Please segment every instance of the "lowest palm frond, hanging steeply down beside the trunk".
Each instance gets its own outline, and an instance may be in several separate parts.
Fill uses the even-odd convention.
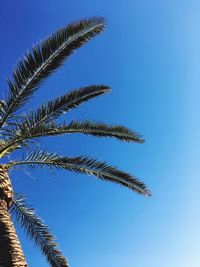
[[[66,258],[58,248],[55,237],[36,214],[35,209],[27,204],[24,195],[15,194],[11,213],[27,236],[41,249],[52,267],[69,267]]]

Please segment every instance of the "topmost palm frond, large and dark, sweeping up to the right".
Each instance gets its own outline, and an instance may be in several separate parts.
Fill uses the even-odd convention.
[[[13,79],[8,79],[10,91],[1,110],[0,128],[67,57],[102,32],[104,27],[105,21],[101,17],[84,19],[59,29],[28,51],[15,67]]]

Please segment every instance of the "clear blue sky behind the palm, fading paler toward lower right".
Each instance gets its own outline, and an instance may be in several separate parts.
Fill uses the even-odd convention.
[[[197,0],[1,1],[0,88],[24,51],[58,27],[102,15],[104,34],[79,49],[29,107],[93,83],[112,93],[66,119],[121,123],[146,143],[63,136],[41,147],[86,154],[135,174],[152,190],[143,198],[95,177],[13,172],[52,228],[72,267],[200,266],[200,2]],[[43,256],[19,231],[30,267]]]

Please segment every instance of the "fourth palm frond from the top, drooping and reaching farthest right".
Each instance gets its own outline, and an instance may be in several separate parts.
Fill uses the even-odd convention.
[[[10,162],[7,168],[17,165],[29,165],[34,167],[47,166],[49,168],[64,169],[72,172],[90,174],[104,181],[110,181],[131,189],[139,194],[150,196],[150,191],[145,184],[132,175],[109,166],[105,162],[99,162],[89,157],[59,157],[57,154],[46,151],[35,151],[28,155],[25,160]]]

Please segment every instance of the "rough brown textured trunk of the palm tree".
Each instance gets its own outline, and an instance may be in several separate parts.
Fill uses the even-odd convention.
[[[6,170],[0,165],[0,267],[27,267],[9,207],[13,189]]]

